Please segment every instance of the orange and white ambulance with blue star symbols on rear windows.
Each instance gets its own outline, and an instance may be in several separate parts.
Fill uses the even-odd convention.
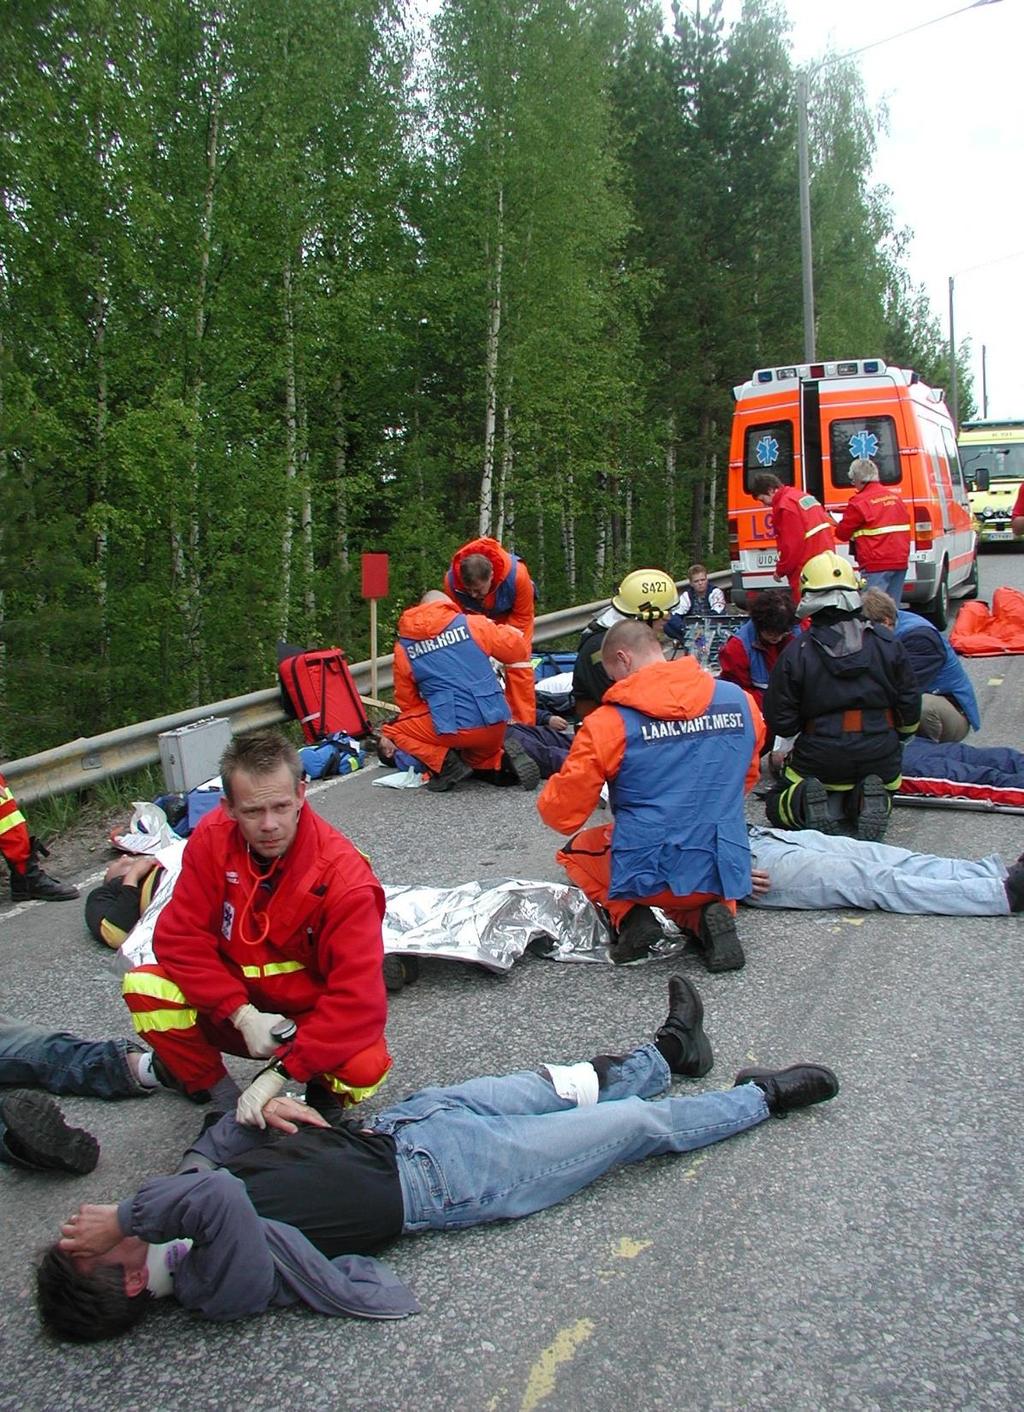
[[[771,511],[750,494],[760,472],[815,496],[833,520],[853,494],[850,462],[870,456],[912,517],[904,603],[945,627],[951,594],[977,596],[977,535],[942,393],[881,359],[758,369],[733,388],[729,548],[733,603],[773,578]],[[849,556],[849,546],[840,554]]]

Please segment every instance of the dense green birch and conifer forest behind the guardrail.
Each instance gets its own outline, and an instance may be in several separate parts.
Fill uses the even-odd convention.
[[[270,685],[282,635],[362,657],[363,551],[387,650],[480,524],[544,610],[722,546],[729,388],[801,346],[774,0],[13,3],[0,41],[0,751]],[[812,117],[822,350],[948,383],[855,69]]]

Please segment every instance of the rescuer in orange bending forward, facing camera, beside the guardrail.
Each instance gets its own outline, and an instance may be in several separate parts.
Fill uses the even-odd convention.
[[[530,569],[497,539],[470,539],[460,549],[445,575],[445,593],[463,613],[482,613],[492,623],[516,627],[525,638],[525,661],[506,672],[504,695],[513,720],[537,724],[537,695],[530,654],[534,650],[537,589]]]

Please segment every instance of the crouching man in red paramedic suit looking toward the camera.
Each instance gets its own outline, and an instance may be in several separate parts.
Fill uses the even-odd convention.
[[[319,1110],[384,1080],[384,892],[349,840],[305,803],[298,753],[275,731],[220,761],[225,799],[188,842],[157,922],[155,966],[124,977],[138,1035],[196,1101],[237,1099],[239,1121],[288,1079]],[[294,1019],[294,1038],[271,1032]],[[271,1060],[239,1099],[222,1052]]]

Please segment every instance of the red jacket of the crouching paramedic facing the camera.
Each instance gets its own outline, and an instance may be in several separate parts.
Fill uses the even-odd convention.
[[[287,1065],[305,1082],[384,1034],[384,892],[363,854],[308,803],[270,892],[250,867],[223,806],[199,820],[157,922],[157,962],[216,1021],[246,1003],[297,1019]],[[270,932],[250,945],[261,915]]]

